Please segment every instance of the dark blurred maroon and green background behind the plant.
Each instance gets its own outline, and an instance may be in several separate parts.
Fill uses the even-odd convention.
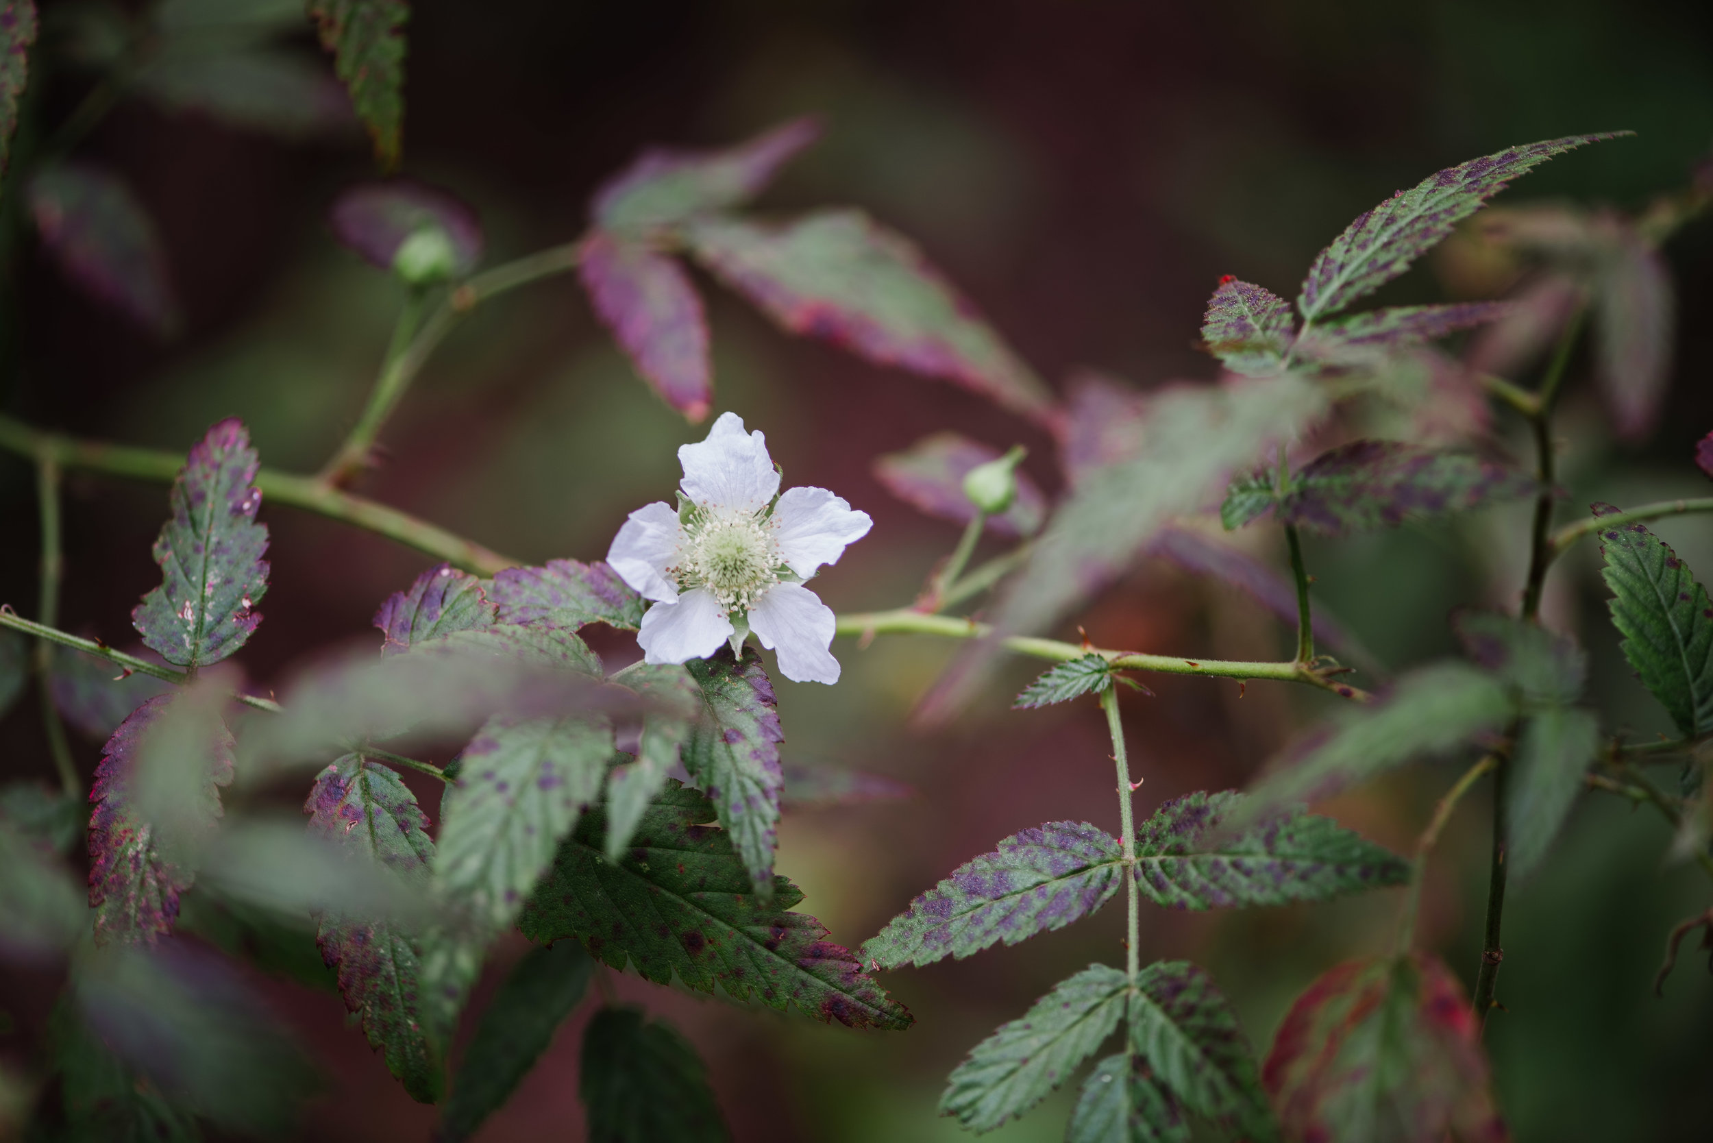
[[[53,3],[50,0],[48,7]],[[721,144],[791,115],[826,117],[822,144],[762,200],[790,211],[851,202],[915,236],[1055,384],[1095,367],[1141,386],[1211,377],[1194,343],[1206,296],[1237,274],[1293,296],[1314,254],[1398,187],[1506,144],[1632,129],[1636,139],[1561,158],[1506,200],[1574,197],[1638,207],[1682,187],[1713,146],[1713,5],[1665,0],[1487,0],[1384,5],[1307,0],[1220,5],[1132,2],[829,0],[577,3],[418,0],[409,26],[406,161],[411,175],[476,204],[488,262],[565,242],[596,183],[644,144]],[[51,120],[82,94],[50,79]],[[187,326],[156,341],[84,300],[36,252],[22,255],[19,368],[7,408],[81,435],[185,449],[242,416],[264,463],[308,470],[361,406],[401,288],[336,247],[331,197],[372,175],[358,141],[283,144],[195,115],[122,105],[84,154],[118,170],[158,218]],[[1668,248],[1679,296],[1675,380],[1663,428],[1620,449],[1573,365],[1566,512],[1704,494],[1691,464],[1713,428],[1713,226]],[[838,490],[874,533],[817,589],[839,610],[908,601],[956,540],[870,476],[872,459],[939,428],[1033,451],[1057,488],[1052,442],[978,398],[790,339],[711,283],[716,411],[767,434],[788,483]],[[1408,295],[1408,296],[1405,296]],[[1391,296],[1391,295],[1388,295]],[[1424,262],[1398,291],[1435,300]],[[363,492],[529,562],[598,559],[624,514],[663,499],[673,449],[699,439],[636,380],[569,278],[519,291],[461,327],[384,434],[389,463]],[[0,461],[0,600],[34,600],[34,492]],[[149,543],[163,487],[72,478],[63,625],[123,644],[158,579]],[[1511,603],[1521,516],[1406,528],[1316,545],[1319,598],[1388,668],[1447,653],[1446,613]],[[370,637],[379,601],[427,566],[384,540],[264,509],[272,588],[245,651],[274,680],[331,641]],[[1658,530],[1713,574],[1713,528]],[[1665,727],[1631,679],[1603,615],[1590,552],[1555,571],[1557,622],[1595,656],[1607,723]],[[1185,655],[1288,655],[1252,603],[1141,567],[1079,622],[1105,646]],[[615,641],[612,648],[622,651]],[[858,944],[908,900],[1021,828],[1088,819],[1117,831],[1110,745],[1093,708],[1006,711],[994,694],[944,732],[908,723],[949,646],[839,641],[845,680],[779,682],[786,747],[908,783],[903,804],[788,812],[779,869],[803,908]],[[634,651],[630,651],[634,655]],[[1028,677],[1018,667],[1007,677]],[[1240,785],[1321,711],[1314,696],[1256,684],[1149,680],[1125,697],[1148,812],[1194,788]],[[51,773],[33,704],[0,725],[9,776]],[[77,740],[94,768],[98,742]],[[1324,807],[1398,848],[1412,845],[1451,764],[1417,768]],[[433,812],[433,793],[420,787]],[[1485,805],[1453,821],[1427,888],[1424,939],[1470,984],[1485,893]],[[1585,804],[1555,860],[1513,891],[1489,1045],[1519,1140],[1704,1140],[1713,1122],[1713,1004],[1687,958],[1663,999],[1650,985],[1663,937],[1708,903],[1692,865],[1665,862],[1648,812]],[[1261,1050],[1290,999],[1334,961],[1388,946],[1396,893],[1312,908],[1216,915],[1149,910],[1144,958],[1194,958],[1235,999]],[[1146,907],[1144,907],[1146,908]],[[738,1140],[951,1140],[935,1119],[946,1073],[995,1025],[1093,960],[1113,961],[1122,910],[886,984],[918,1023],[853,1033],[800,1016],[618,987],[677,1021],[709,1061]],[[521,953],[502,946],[488,985]],[[325,1068],[303,1126],[315,1140],[421,1140],[433,1112],[409,1102],[331,992],[257,982]],[[7,989],[17,1013],[0,1050],[22,1050],[51,980]],[[34,996],[33,992],[43,992]],[[478,992],[480,1004],[483,992]],[[39,1026],[39,1025],[38,1025]],[[481,1140],[581,1138],[577,1032],[567,1026]],[[994,1138],[1064,1131],[1071,1092]]]

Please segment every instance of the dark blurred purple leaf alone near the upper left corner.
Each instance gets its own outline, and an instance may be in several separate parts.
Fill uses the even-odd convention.
[[[144,329],[170,336],[180,324],[154,221],[130,189],[94,166],[58,165],[26,187],[41,242],[89,296]]]

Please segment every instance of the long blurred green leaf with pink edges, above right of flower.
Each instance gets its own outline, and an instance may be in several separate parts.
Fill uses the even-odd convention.
[[[707,218],[690,223],[685,240],[721,281],[791,332],[1052,420],[1052,392],[1035,370],[915,243],[862,211],[817,211],[783,226]]]

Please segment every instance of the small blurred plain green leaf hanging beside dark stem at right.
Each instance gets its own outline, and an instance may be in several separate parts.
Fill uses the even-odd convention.
[[[1549,706],[1523,723],[1516,761],[1504,778],[1513,877],[1526,877],[1545,859],[1598,749],[1600,721],[1591,711]]]

